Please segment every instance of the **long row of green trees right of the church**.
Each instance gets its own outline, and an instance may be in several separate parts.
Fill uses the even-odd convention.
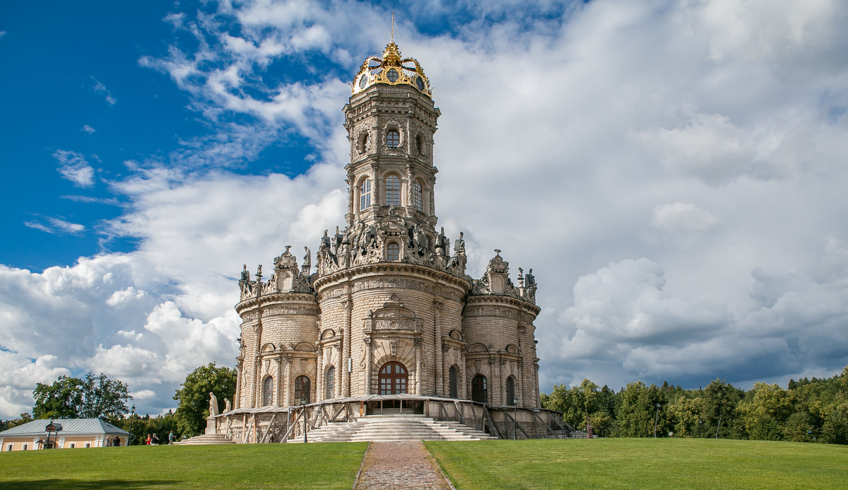
[[[604,437],[722,437],[848,444],[848,366],[840,375],[754,383],[745,391],[722,380],[686,390],[663,382],[628,383],[617,393],[584,379],[542,393],[542,406]]]

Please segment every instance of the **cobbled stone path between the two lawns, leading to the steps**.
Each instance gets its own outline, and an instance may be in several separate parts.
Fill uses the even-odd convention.
[[[356,490],[451,490],[421,441],[371,443]]]

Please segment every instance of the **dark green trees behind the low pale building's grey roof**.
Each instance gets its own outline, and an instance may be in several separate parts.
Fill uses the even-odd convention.
[[[36,384],[32,392],[36,419],[105,419],[126,414],[132,397],[126,383],[110,380],[103,373],[87,373],[85,379],[59,376],[52,385]]]

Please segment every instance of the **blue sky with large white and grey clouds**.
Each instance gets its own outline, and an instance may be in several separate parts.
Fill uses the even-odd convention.
[[[395,41],[468,273],[538,282],[539,381],[848,365],[848,3],[0,3],[0,418],[233,367],[237,279],[343,225],[342,107]]]

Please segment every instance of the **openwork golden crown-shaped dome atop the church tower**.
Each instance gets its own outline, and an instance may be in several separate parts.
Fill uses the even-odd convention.
[[[364,91],[377,83],[387,85],[409,85],[427,97],[432,97],[430,81],[416,58],[401,58],[398,45],[389,42],[382,58],[370,56],[362,62],[354,78],[353,93]]]

